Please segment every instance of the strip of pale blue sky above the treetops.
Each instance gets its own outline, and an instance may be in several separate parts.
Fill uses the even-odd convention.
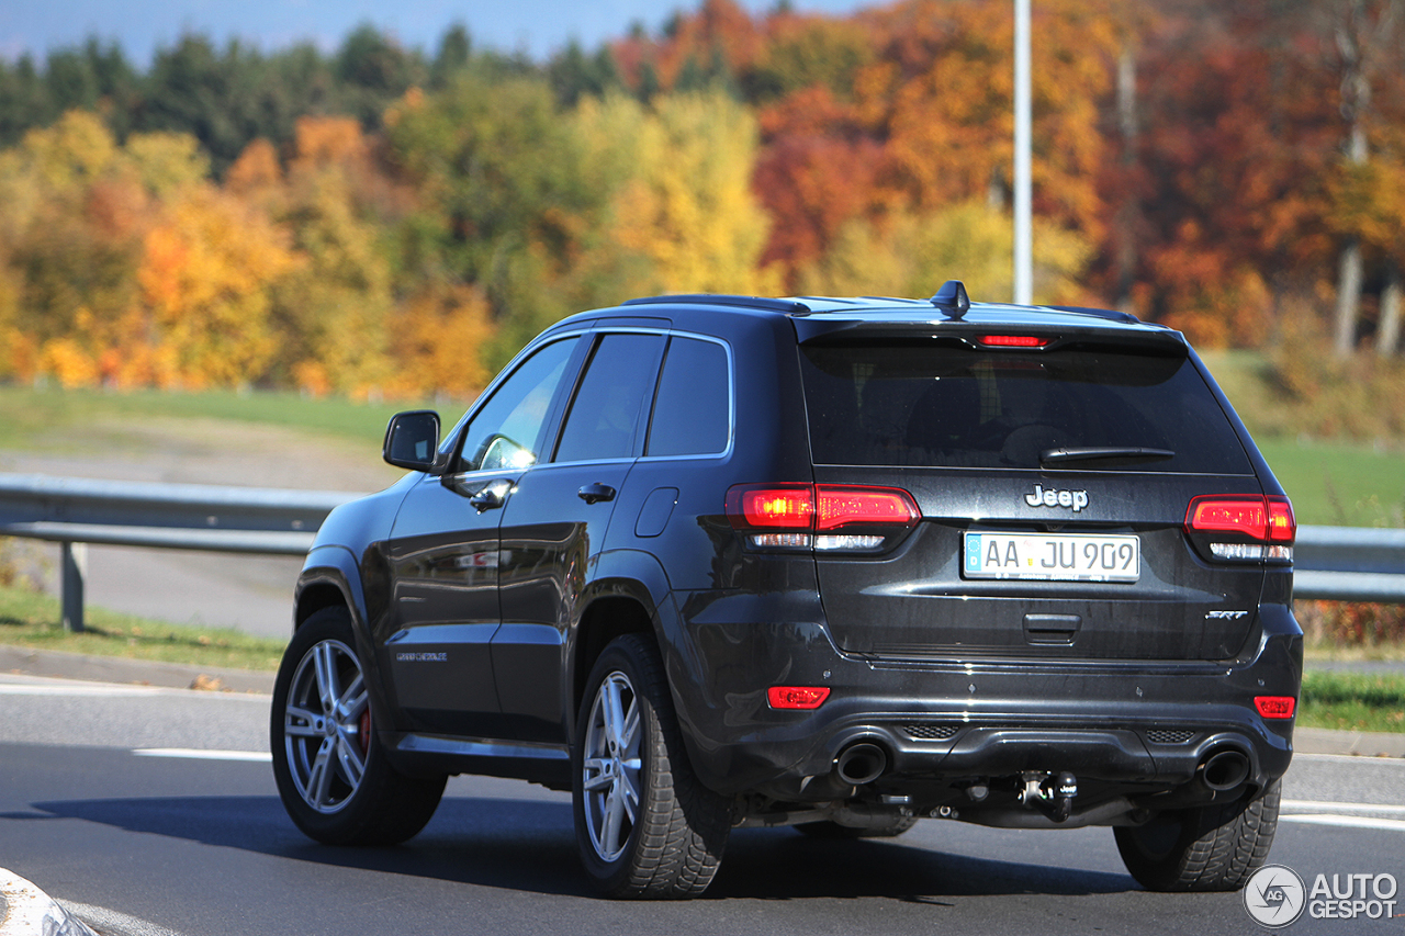
[[[739,0],[752,13],[774,0]],[[475,48],[524,51],[545,60],[572,38],[587,51],[642,22],[658,31],[677,8],[698,0],[3,0],[0,58],[42,59],[53,48],[89,37],[117,41],[138,67],[181,35],[198,32],[223,45],[237,38],[264,51],[311,39],[334,49],[357,25],[371,22],[406,46],[433,53],[444,30],[468,27]],[[792,0],[795,10],[850,13],[873,0]]]

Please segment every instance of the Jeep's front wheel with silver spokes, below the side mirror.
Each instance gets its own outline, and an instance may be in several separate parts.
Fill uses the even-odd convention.
[[[344,607],[316,611],[294,634],[273,690],[273,773],[309,838],[395,845],[430,821],[447,777],[407,777],[385,759],[354,646]]]

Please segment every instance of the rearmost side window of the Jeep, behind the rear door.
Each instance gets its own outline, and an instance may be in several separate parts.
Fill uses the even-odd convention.
[[[659,378],[646,455],[714,455],[726,451],[731,427],[726,350],[714,342],[674,337]]]

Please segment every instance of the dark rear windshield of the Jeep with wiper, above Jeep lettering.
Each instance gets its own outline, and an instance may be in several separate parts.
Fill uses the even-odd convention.
[[[816,464],[1253,472],[1186,357],[910,342],[801,351]],[[1159,451],[1041,465],[1069,448]]]

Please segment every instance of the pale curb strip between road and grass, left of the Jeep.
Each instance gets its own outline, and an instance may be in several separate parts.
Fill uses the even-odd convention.
[[[160,663],[122,656],[90,656],[65,651],[0,645],[0,673],[58,676],[96,683],[136,683],[169,689],[207,689],[232,693],[273,694],[274,673],[218,666]]]

